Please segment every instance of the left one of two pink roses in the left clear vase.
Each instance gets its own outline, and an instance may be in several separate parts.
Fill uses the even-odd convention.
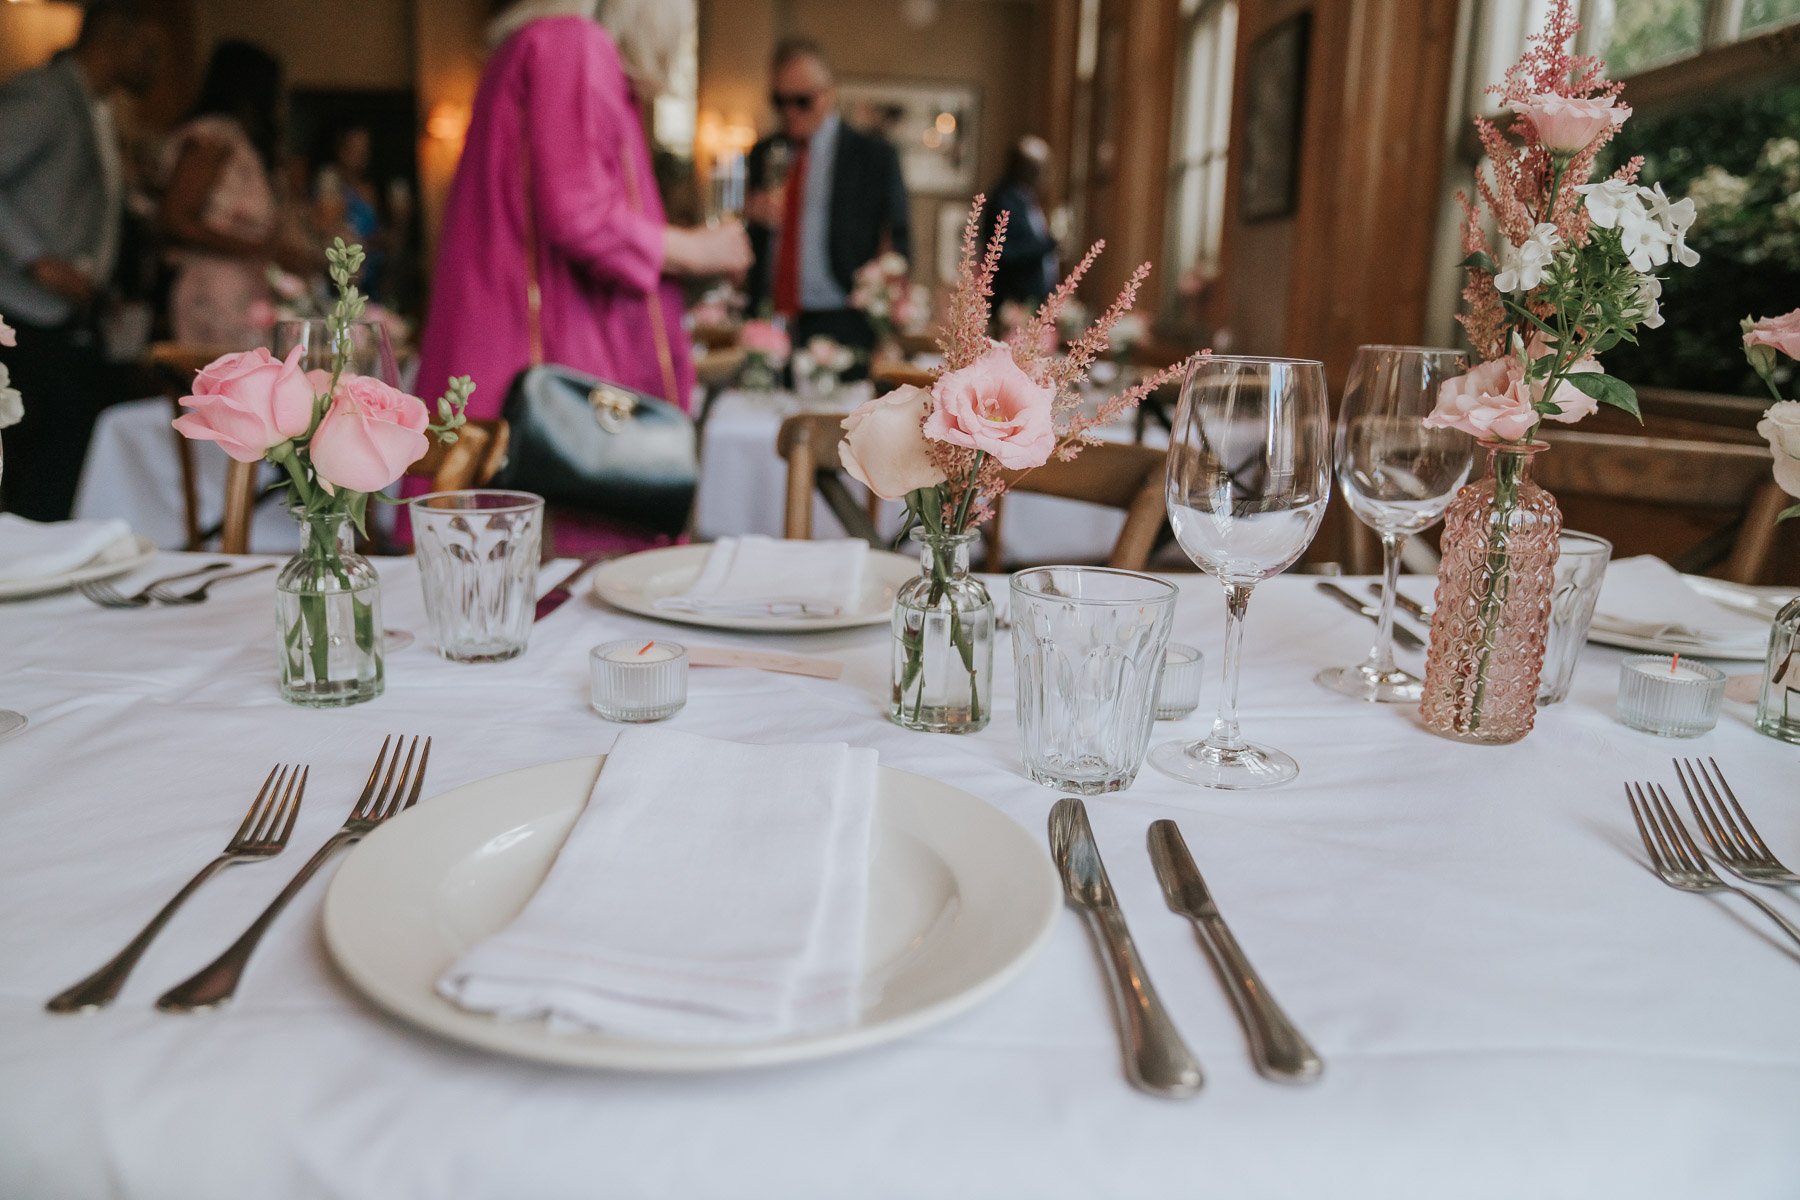
[[[239,462],[256,462],[313,423],[313,389],[301,372],[302,347],[286,362],[266,349],[225,354],[200,369],[194,394],[182,398],[175,428],[184,437],[216,441]]]

